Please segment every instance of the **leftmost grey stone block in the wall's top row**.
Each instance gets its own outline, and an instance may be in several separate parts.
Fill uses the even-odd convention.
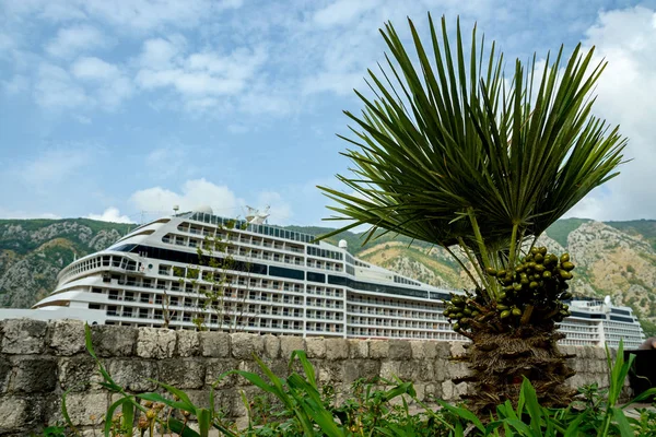
[[[2,326],[4,354],[40,354],[46,349],[48,323],[32,319],[8,319]]]

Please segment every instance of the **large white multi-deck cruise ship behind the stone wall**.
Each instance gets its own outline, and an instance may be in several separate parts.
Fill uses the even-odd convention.
[[[271,226],[267,214],[224,218],[210,208],[134,228],[73,261],[32,310],[0,318],[77,318],[168,327],[349,339],[466,341],[442,315],[449,293],[364,262],[312,235]],[[215,249],[221,241],[221,250]],[[212,298],[208,305],[208,299]],[[19,312],[15,312],[19,311]],[[21,314],[20,311],[24,311]],[[637,347],[631,308],[575,300],[562,344]],[[28,314],[27,314],[28,312]]]

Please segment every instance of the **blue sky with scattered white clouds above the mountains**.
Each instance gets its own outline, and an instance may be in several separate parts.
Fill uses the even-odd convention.
[[[378,27],[478,22],[506,59],[561,43],[609,67],[596,111],[634,158],[570,215],[656,218],[656,3],[483,0],[0,0],[0,217],[139,221],[173,204],[271,222],[329,215],[343,109],[384,59]],[[453,26],[452,26],[453,27]]]

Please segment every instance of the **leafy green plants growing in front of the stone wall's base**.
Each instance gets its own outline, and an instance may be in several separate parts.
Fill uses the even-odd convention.
[[[105,414],[105,437],[133,436],[153,437],[169,435],[179,437],[206,437],[210,428],[221,435],[236,436],[522,436],[522,437],[583,437],[583,436],[656,436],[656,413],[637,410],[625,414],[625,409],[656,393],[647,390],[628,404],[619,403],[624,381],[634,356],[623,357],[620,344],[617,357],[607,349],[609,388],[597,385],[579,389],[582,400],[566,408],[553,409],[541,404],[539,394],[529,379],[520,383],[518,401],[509,400],[495,405],[487,417],[478,417],[466,404],[452,405],[442,400],[434,411],[418,399],[412,382],[398,378],[386,380],[359,379],[351,387],[352,395],[336,404],[331,386],[317,383],[316,370],[305,352],[294,351],[289,363],[289,376],[277,376],[259,357],[262,376],[244,370],[222,374],[211,386],[209,406],[194,404],[185,391],[164,382],[153,381],[166,394],[149,392],[131,394],[120,387],[97,358],[91,342],[91,329],[85,328],[86,349],[96,361],[103,377],[101,385],[109,392],[119,394]],[[215,409],[214,390],[229,375],[238,375],[262,391],[251,401],[242,393],[248,412],[248,427],[238,430],[225,421]],[[151,380],[152,381],[152,380]],[[386,389],[382,389],[385,387]],[[68,429],[51,426],[43,432],[44,437],[80,436],[68,414],[66,397],[62,397],[62,415]],[[278,409],[273,402],[280,404]],[[412,402],[417,408],[411,409]],[[190,421],[198,424],[198,432],[189,427]]]

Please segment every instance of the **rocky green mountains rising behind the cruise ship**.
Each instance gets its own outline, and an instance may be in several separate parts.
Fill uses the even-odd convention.
[[[70,220],[0,220],[0,307],[28,307],[51,292],[57,273],[75,257],[108,247],[134,225]],[[312,235],[329,227],[288,226]],[[408,237],[341,233],[349,250],[363,260],[429,284],[464,288],[471,282],[445,249]],[[631,306],[648,334],[656,334],[656,221],[594,222],[566,218],[553,224],[539,245],[569,251],[576,295]]]

